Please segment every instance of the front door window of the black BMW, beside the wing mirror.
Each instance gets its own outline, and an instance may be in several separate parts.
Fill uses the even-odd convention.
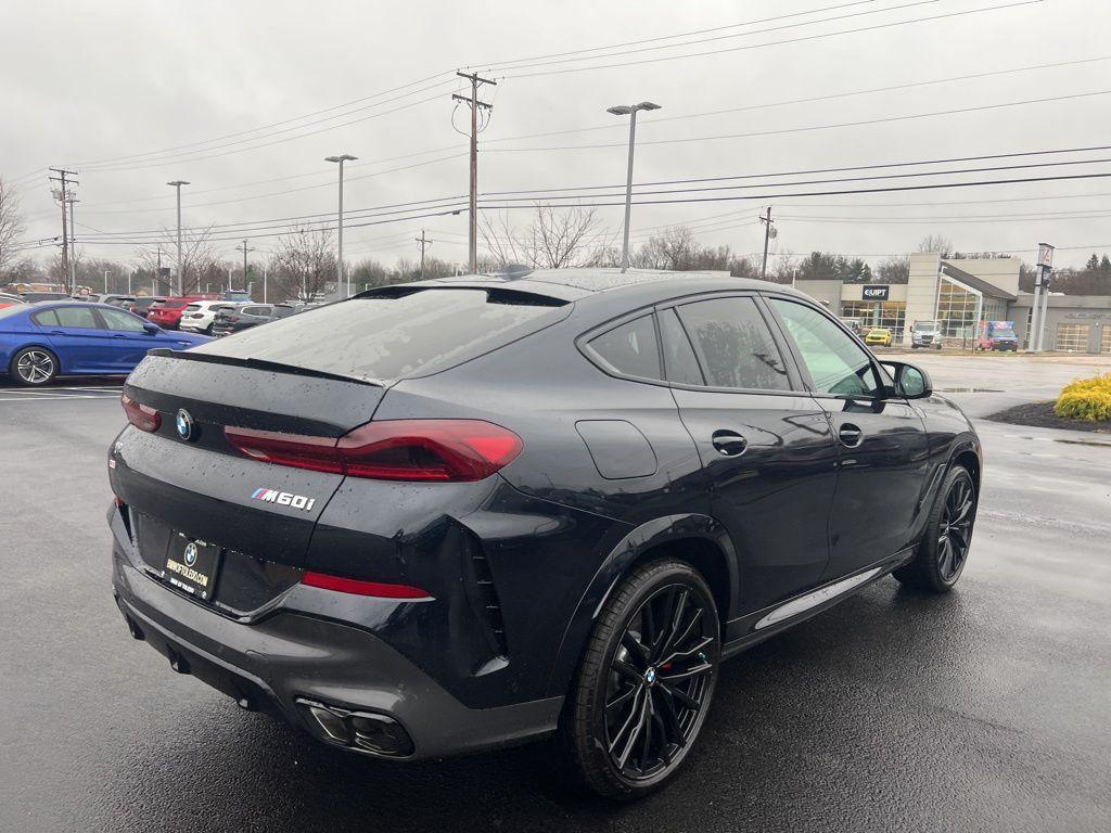
[[[815,393],[874,397],[880,388],[868,354],[829,318],[805,304],[770,299],[810,371]]]

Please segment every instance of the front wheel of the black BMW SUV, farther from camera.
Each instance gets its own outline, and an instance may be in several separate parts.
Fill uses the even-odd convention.
[[[930,593],[952,590],[968,563],[978,499],[968,469],[953,465],[941,482],[914,559],[892,575],[915,590]]]

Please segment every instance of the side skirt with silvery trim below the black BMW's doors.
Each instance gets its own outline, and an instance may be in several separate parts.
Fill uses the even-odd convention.
[[[738,654],[758,642],[763,642],[765,639],[832,608],[853,593],[859,593],[870,584],[874,584],[913,556],[913,548],[908,546],[852,575],[808,590],[805,593],[780,604],[734,619],[725,626],[725,644],[721,649],[722,659]]]

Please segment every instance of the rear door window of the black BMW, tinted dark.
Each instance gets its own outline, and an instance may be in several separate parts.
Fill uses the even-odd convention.
[[[715,298],[679,308],[713,388],[787,391],[791,381],[771,332],[751,298]]]

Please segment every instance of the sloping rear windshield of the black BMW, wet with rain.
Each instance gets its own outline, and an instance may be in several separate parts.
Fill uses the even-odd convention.
[[[192,352],[291,364],[379,382],[447,370],[564,318],[570,305],[486,289],[354,298]]]

